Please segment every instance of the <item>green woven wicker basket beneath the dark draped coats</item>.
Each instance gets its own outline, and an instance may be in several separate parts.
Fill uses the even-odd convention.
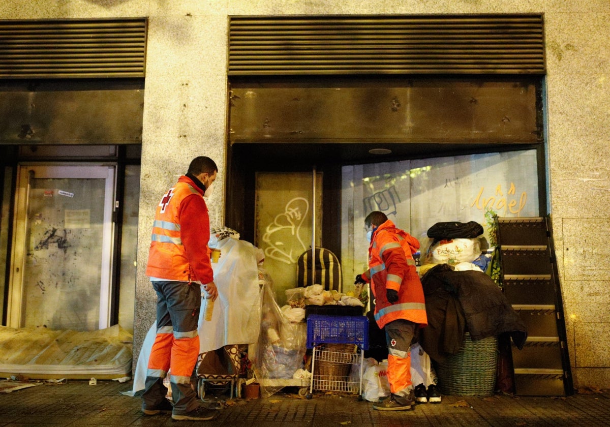
[[[457,396],[492,395],[498,362],[497,337],[473,341],[466,332],[462,344],[458,354],[435,363],[440,392]]]

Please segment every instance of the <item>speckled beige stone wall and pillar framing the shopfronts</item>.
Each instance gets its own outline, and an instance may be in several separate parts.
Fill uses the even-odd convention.
[[[608,0],[4,0],[0,19],[149,17],[134,353],[154,320],[145,275],[159,195],[202,154],[220,168],[223,224],[229,15],[544,12],[548,196],[576,386],[610,383]]]

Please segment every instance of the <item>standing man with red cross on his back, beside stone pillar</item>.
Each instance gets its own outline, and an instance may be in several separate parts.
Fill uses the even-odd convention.
[[[218,411],[200,406],[190,378],[199,354],[201,287],[215,300],[209,248],[209,196],[218,168],[209,157],[192,160],[185,175],[161,198],[152,225],[146,274],[157,293],[157,336],[146,370],[142,411],[171,411],[174,420],[204,421]],[[170,372],[171,397],[163,378]]]

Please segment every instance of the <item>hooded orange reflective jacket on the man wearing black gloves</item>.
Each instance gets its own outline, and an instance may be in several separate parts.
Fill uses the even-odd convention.
[[[379,328],[397,319],[410,320],[420,327],[428,325],[422,282],[412,256],[412,251],[418,248],[418,240],[396,228],[390,220],[381,224],[371,237],[369,269],[362,276],[371,283]],[[387,289],[398,292],[396,303],[387,300]]]

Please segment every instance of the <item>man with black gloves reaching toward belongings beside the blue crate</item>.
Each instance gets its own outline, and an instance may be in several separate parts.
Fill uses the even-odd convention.
[[[415,237],[396,228],[378,210],[364,220],[370,235],[368,270],[356,283],[371,283],[375,320],[386,327],[387,379],[390,397],[373,404],[379,411],[404,411],[415,406],[411,382],[411,344],[417,329],[428,324],[426,306],[412,253],[419,249]]]

